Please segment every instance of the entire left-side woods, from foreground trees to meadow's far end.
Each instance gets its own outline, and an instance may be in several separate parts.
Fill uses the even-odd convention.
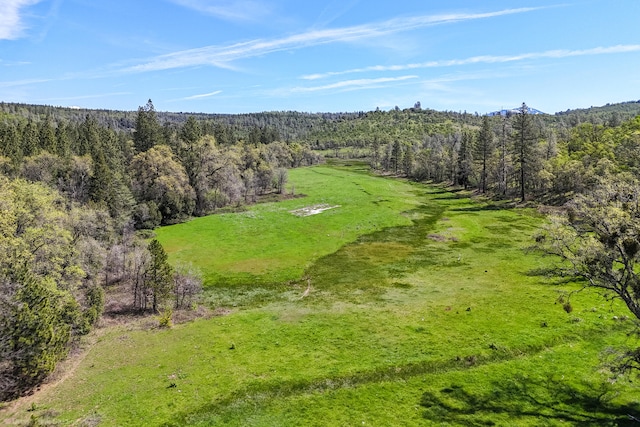
[[[151,101],[131,129],[126,116],[38,112],[0,116],[0,400],[41,382],[105,305],[158,313],[193,304],[199,273],[169,265],[136,229],[283,193],[287,168],[320,160],[268,126],[233,140],[225,125],[192,116],[161,124]]]

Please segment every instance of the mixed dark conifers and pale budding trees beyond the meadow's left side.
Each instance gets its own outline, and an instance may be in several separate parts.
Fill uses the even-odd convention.
[[[319,161],[305,145],[280,142],[274,127],[254,126],[248,139],[234,140],[226,125],[193,116],[179,126],[161,124],[151,102],[140,107],[130,130],[92,115],[56,121],[44,111],[44,117],[0,118],[4,174],[45,183],[78,203],[104,205],[113,217],[133,216],[138,228],[253,201],[277,187],[280,169]]]

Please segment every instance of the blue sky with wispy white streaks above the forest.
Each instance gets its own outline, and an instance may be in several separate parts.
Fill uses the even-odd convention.
[[[640,1],[0,0],[0,101],[554,113],[640,99]]]

